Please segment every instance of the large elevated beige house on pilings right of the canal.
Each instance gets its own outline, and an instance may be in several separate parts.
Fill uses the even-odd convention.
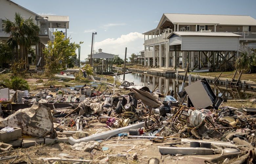
[[[232,70],[234,59],[256,43],[256,20],[243,15],[164,13],[144,34],[144,65]]]

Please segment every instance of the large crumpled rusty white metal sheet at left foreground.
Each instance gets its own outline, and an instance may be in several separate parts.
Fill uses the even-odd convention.
[[[34,103],[30,108],[20,109],[0,122],[1,127],[20,127],[22,133],[32,137],[45,137],[53,131],[50,108]]]

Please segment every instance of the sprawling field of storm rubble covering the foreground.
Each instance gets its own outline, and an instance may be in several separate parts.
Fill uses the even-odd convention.
[[[195,83],[203,87],[203,98]],[[123,158],[164,163],[170,155],[177,156],[177,160],[204,155],[207,159],[202,161],[208,163],[255,162],[253,110],[221,107],[223,100],[211,95],[207,82],[195,83],[184,87],[180,101],[174,95],[163,96],[156,88],[152,93],[148,87],[136,85],[127,87],[130,92],[124,94],[114,94],[111,89],[102,92],[97,82],[66,88],[53,85],[30,92],[10,90],[1,101],[0,141],[11,145],[14,149],[8,149],[13,152],[16,147],[64,144],[69,151],[88,153],[85,159],[74,154],[45,155],[37,158],[41,162],[108,163]],[[187,99],[191,103],[186,103]],[[8,108],[14,107],[14,102],[20,105],[19,110]],[[19,134],[12,135],[16,128]],[[111,154],[115,149],[118,154]],[[95,153],[102,155],[95,159]],[[4,156],[5,160],[13,158]]]

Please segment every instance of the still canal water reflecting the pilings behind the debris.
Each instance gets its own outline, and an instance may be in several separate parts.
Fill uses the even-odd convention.
[[[119,75],[120,79],[123,79],[123,75]],[[144,73],[130,73],[125,74],[125,80],[128,82],[134,82],[135,85],[147,86],[153,90],[157,85],[162,94],[168,93],[169,90],[174,90],[174,96],[177,98],[177,94],[181,91],[182,80],[176,80],[175,78],[165,78],[160,76],[154,76]],[[193,83],[193,82],[192,82]],[[188,85],[186,82],[185,87]],[[224,86],[216,86],[210,84],[213,92],[216,96],[223,99],[249,99],[256,95],[255,92],[243,91],[242,89],[225,88]]]

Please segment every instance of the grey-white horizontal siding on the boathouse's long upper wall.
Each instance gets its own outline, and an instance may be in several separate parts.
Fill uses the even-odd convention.
[[[237,51],[238,37],[183,36],[181,51]]]

